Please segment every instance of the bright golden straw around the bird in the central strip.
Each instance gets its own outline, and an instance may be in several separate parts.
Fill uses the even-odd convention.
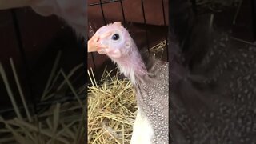
[[[162,58],[165,49],[166,41],[162,41],[150,48],[150,54]],[[88,70],[92,85],[88,86],[87,101],[89,144],[130,143],[138,108],[134,88],[128,79],[118,79],[118,72],[113,71],[105,69],[96,82],[93,71]]]

